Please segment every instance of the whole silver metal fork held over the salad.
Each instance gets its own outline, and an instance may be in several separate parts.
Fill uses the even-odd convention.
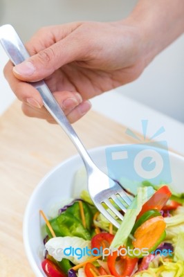
[[[0,42],[13,64],[19,64],[30,57],[24,44],[21,42],[21,39],[11,25],[6,24],[0,27]],[[95,166],[44,80],[32,82],[31,84],[42,96],[44,107],[46,107],[62,129],[64,129],[80,153],[86,167],[89,194],[95,206],[105,217],[107,217],[109,222],[119,228],[119,222],[123,220],[123,215],[118,210],[120,209],[126,213],[127,206],[131,204],[131,199],[127,193],[125,193],[125,190],[123,190],[118,181],[111,179]],[[104,204],[107,208],[104,208]],[[119,209],[117,209],[114,204],[116,204]]]

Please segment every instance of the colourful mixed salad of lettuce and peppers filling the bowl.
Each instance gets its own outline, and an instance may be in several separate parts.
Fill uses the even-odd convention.
[[[119,229],[86,190],[51,208],[48,219],[40,213],[48,277],[184,276],[184,193],[169,186],[142,182]]]

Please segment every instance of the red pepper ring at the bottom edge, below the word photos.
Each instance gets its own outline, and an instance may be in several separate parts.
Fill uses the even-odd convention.
[[[120,247],[118,250],[120,250]],[[136,267],[136,263],[138,262],[138,258],[129,258],[128,256],[120,256],[120,260],[118,264],[121,272],[118,272],[116,269],[116,259],[118,258],[118,251],[113,251],[111,255],[107,258],[107,265],[109,267],[109,271],[113,276],[116,277],[126,277],[131,276],[134,268]]]

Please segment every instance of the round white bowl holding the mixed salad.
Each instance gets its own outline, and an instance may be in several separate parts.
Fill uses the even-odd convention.
[[[109,145],[109,147],[112,146],[117,145]],[[104,172],[107,172],[105,154],[107,148],[108,146],[103,146],[89,151],[93,161]],[[131,145],[131,148],[132,150],[140,149],[141,145]],[[164,150],[161,151],[164,152]],[[184,191],[184,157],[169,152],[169,161],[172,172],[172,183],[176,190]],[[46,276],[41,266],[42,257],[40,256],[40,249],[43,249],[44,244],[41,234],[39,210],[48,213],[51,204],[71,197],[73,176],[82,166],[83,162],[79,155],[60,163],[39,182],[33,195],[30,197],[24,215],[24,245],[30,266],[37,277]]]

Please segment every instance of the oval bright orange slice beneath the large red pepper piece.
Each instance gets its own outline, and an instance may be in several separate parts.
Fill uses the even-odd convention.
[[[135,248],[152,249],[155,244],[160,240],[160,237],[165,231],[166,223],[162,216],[152,217],[150,220],[145,221],[134,233],[132,244]]]

